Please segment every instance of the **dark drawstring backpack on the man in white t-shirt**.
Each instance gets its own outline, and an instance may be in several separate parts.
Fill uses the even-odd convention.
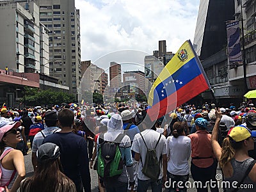
[[[141,135],[141,138],[143,140],[143,142],[145,143],[146,147],[147,147],[147,144],[142,136],[142,134],[140,133]],[[159,136],[159,139],[156,143],[156,147],[157,147],[157,144],[159,143],[160,139],[161,139],[161,136],[162,134],[160,134]],[[141,159],[141,164],[142,164],[142,173],[144,175],[146,175],[147,177],[149,177],[150,179],[152,180],[157,180],[159,175],[160,175],[160,163],[159,161],[161,160],[161,157],[160,159],[158,160],[157,159],[157,156],[156,156],[156,147],[153,148],[153,149],[149,149],[147,147],[147,154],[146,154],[146,159],[145,159],[145,163],[144,163],[144,166],[142,164],[142,159]],[[141,156],[140,156],[141,158]]]

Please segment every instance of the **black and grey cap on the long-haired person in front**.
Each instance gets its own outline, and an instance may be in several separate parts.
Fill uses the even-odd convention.
[[[54,143],[44,143],[38,148],[36,156],[38,162],[57,159],[60,157],[60,147]]]

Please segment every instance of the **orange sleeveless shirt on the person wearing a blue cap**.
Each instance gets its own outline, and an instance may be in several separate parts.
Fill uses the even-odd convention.
[[[206,159],[192,159],[193,164],[200,168],[207,168],[212,165],[215,158],[212,145],[211,134],[208,131],[196,131],[188,136],[191,139],[191,157],[211,157]]]

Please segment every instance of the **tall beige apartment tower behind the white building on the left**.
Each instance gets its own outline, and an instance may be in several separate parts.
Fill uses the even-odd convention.
[[[49,29],[50,76],[77,94],[81,81],[80,15],[74,0],[35,0]]]

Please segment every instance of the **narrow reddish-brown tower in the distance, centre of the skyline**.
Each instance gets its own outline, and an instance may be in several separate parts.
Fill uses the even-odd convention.
[[[116,62],[110,62],[109,82],[112,88],[119,89],[122,86],[121,65]]]

